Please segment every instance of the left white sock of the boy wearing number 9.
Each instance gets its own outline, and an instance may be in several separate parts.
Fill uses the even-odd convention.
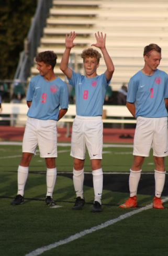
[[[18,173],[17,173],[17,183],[18,183],[18,191],[17,194],[21,194],[21,196],[24,196],[24,190],[25,185],[28,177],[29,167],[18,167]]]

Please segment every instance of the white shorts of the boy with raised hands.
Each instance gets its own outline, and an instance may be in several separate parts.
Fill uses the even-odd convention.
[[[76,116],[73,121],[70,155],[83,160],[86,147],[90,159],[102,159],[103,121],[101,116]]]

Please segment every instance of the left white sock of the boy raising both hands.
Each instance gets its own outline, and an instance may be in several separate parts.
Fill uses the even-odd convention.
[[[83,197],[84,168],[80,171],[73,169],[73,185],[76,197]]]

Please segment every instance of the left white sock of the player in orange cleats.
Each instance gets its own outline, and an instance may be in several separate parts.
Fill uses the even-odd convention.
[[[130,197],[137,196],[137,189],[138,189],[138,183],[141,177],[141,171],[132,171],[130,169],[130,175],[129,175],[129,191],[130,191]]]

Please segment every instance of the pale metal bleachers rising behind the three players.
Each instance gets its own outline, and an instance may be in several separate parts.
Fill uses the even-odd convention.
[[[94,34],[97,31],[107,34],[106,47],[115,65],[111,80],[114,91],[122,83],[128,83],[130,77],[143,67],[143,48],[150,43],[162,48],[160,69],[168,71],[167,0],[53,0],[37,52],[54,50],[57,53],[54,70],[62,79],[64,75],[59,65],[65,49],[65,35],[71,31],[77,33],[74,41],[77,45],[71,54],[77,56],[77,71],[82,74],[82,50],[96,42]],[[105,70],[102,58],[97,73],[102,74]],[[35,64],[31,76],[37,74]]]

